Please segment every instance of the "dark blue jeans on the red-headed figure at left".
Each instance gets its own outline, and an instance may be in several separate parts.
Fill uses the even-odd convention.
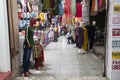
[[[24,72],[29,72],[29,65],[30,65],[30,57],[31,57],[32,48],[24,48],[24,55],[23,55],[23,70]]]

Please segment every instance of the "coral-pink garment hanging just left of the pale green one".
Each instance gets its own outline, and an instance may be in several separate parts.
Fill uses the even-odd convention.
[[[66,17],[69,17],[71,15],[70,5],[71,5],[71,0],[65,0],[64,13]]]

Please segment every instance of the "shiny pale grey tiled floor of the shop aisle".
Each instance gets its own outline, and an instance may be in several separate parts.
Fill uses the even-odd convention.
[[[53,80],[52,78],[73,80],[74,78],[82,77],[81,79],[74,80],[105,80],[102,78],[98,79],[102,77],[103,61],[90,52],[81,55],[74,46],[75,45],[72,44],[68,45],[65,37],[60,37],[58,42],[51,42],[45,48],[45,67],[41,68],[39,71],[31,70],[31,79],[32,77],[51,77],[51,79],[43,80]],[[87,79],[92,77],[95,79]],[[38,80],[41,79],[39,78]]]

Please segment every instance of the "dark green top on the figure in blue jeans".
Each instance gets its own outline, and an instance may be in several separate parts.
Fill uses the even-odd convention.
[[[34,35],[33,28],[28,27],[28,33],[27,33],[27,29],[26,29],[25,40],[24,40],[24,45],[26,47],[28,47],[28,41],[30,43],[30,46],[33,47],[33,44],[34,44],[33,35]],[[28,38],[28,41],[27,41],[27,38]]]

